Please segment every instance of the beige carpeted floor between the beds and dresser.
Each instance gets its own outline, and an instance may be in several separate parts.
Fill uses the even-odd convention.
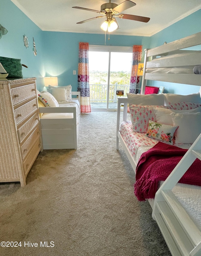
[[[133,194],[116,116],[82,114],[77,150],[41,152],[24,188],[0,183],[0,241],[21,241],[0,255],[171,255],[149,203]]]

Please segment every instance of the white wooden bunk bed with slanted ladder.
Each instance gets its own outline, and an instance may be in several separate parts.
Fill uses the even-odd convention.
[[[201,64],[201,51],[186,50],[188,47],[200,44],[201,32],[165,45],[161,45],[154,49],[146,50],[144,61],[145,72],[143,75],[141,93],[144,94],[147,80],[201,86],[201,76],[199,74],[194,74],[191,72],[186,73],[185,71],[172,73],[172,69],[175,67],[188,68],[188,66],[191,66],[193,68],[193,66]],[[153,61],[149,60],[149,58],[152,56]],[[155,56],[162,57],[155,59]],[[147,68],[170,68],[171,71],[170,73],[157,73],[157,71],[148,73],[150,70],[147,70]],[[168,105],[169,102],[193,102],[195,100],[199,101],[195,103],[199,103],[198,106],[200,107],[201,101],[197,98],[197,96],[198,95],[196,94],[189,96],[172,94],[149,96],[134,95],[136,102],[133,102],[133,104],[143,106],[160,106]],[[161,104],[162,101],[163,104]],[[124,105],[123,122],[121,123],[120,127],[122,104]],[[118,143],[120,141],[133,167],[133,170],[136,171],[136,166],[138,168],[138,161],[141,154],[152,148],[153,144],[155,145],[156,142],[153,142],[153,139],[145,137],[142,132],[134,131],[131,132],[136,133],[135,142],[133,143],[132,140],[129,140],[129,138],[126,139],[126,136],[128,136],[131,130],[131,122],[128,121],[130,118],[127,119],[127,108],[128,98],[118,98],[116,148],[118,149]],[[180,147],[182,147],[182,145],[180,145]],[[189,147],[190,146],[186,145],[184,148]],[[171,254],[175,256],[201,255],[201,187],[177,183],[196,157],[199,159],[201,158],[197,153],[196,156],[192,156],[194,148],[201,151],[201,135],[198,137],[195,143],[193,143],[190,149],[188,149],[187,153],[179,162],[177,167],[171,172],[169,177],[166,178],[166,181],[164,183],[159,183],[160,188],[156,192],[155,198],[148,199],[151,207],[153,208],[152,217],[156,220]],[[147,190],[149,190],[149,188],[147,188]]]

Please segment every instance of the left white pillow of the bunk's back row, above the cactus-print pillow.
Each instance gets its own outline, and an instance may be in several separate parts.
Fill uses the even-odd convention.
[[[135,104],[141,106],[163,106],[164,95],[163,94],[133,94],[127,93],[128,104]]]

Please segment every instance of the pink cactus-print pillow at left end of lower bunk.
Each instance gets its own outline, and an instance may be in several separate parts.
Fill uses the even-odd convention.
[[[147,132],[149,120],[151,120],[152,122],[156,122],[156,117],[153,111],[154,107],[169,108],[167,106],[130,106],[129,110],[131,114],[133,131]]]

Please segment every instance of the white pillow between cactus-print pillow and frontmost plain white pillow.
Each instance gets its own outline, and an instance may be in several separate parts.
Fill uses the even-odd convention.
[[[175,110],[154,107],[153,111],[155,113],[156,122],[164,125],[173,125],[171,113],[197,113],[200,112],[199,108],[189,109],[189,110]]]

